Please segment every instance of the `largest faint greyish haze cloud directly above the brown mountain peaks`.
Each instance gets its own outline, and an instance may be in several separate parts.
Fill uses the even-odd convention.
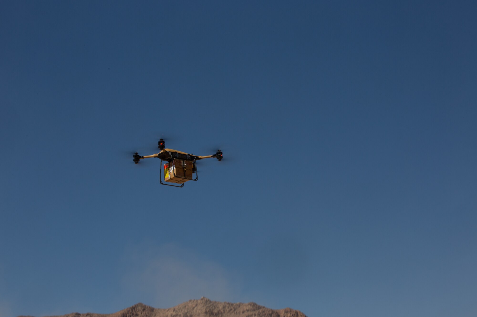
[[[122,287],[128,300],[167,308],[202,296],[237,301],[239,278],[220,264],[175,244],[129,246]]]

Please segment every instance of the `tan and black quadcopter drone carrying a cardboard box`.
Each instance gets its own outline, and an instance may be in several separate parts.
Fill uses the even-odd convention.
[[[160,158],[161,159],[161,172],[159,173],[159,182],[162,185],[172,186],[172,187],[184,187],[184,183],[189,180],[197,180],[197,167],[196,161],[203,158],[217,158],[219,161],[222,160],[223,155],[220,150],[216,154],[199,156],[192,155],[185,152],[177,151],[174,149],[165,149],[166,145],[163,139],[160,139],[157,142],[157,147],[161,149],[159,153],[153,155],[142,156],[137,152],[133,155],[133,161],[135,164],[138,164],[141,159],[144,158]],[[180,186],[165,184],[162,182],[162,162],[166,161],[164,164],[164,181],[168,183],[181,184]],[[196,174],[196,178],[192,178],[192,174]]]

